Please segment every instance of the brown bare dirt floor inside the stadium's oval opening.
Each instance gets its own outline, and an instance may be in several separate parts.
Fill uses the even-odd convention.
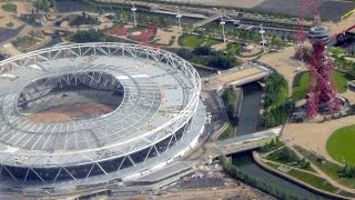
[[[44,112],[28,116],[34,123],[69,122],[74,118],[100,116],[113,111],[112,108],[101,103],[82,103],[67,107],[51,108]]]

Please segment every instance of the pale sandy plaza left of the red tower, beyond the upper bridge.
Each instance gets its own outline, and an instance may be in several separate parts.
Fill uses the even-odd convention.
[[[288,81],[288,94],[292,94],[292,82],[297,68],[300,71],[307,70],[303,62],[293,58],[294,54],[294,48],[290,47],[280,52],[264,54],[258,59],[258,61],[272,66],[278,73],[285,77]]]

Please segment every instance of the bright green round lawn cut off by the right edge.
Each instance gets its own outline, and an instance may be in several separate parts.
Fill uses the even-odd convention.
[[[355,126],[336,130],[326,142],[326,151],[336,161],[355,164]]]

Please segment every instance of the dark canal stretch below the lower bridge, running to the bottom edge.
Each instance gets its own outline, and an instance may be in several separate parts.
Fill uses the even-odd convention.
[[[271,187],[277,188],[287,194],[296,196],[298,199],[327,200],[327,198],[313,193],[297,184],[294,184],[283,178],[274,176],[260,168],[253,160],[252,153],[233,154],[232,162],[248,177],[258,179]]]

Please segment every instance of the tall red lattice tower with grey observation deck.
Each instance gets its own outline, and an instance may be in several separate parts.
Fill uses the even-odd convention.
[[[303,21],[308,9],[313,14],[313,26],[310,31],[305,32]],[[308,56],[304,54],[303,47],[306,39],[312,43],[312,52]],[[320,12],[313,0],[303,0],[296,40],[296,51],[307,63],[310,70],[307,118],[315,118],[320,111],[338,112],[342,109],[342,101],[337,97],[336,86],[332,81],[334,63],[325,49],[331,40],[331,33],[328,28],[322,26]]]

